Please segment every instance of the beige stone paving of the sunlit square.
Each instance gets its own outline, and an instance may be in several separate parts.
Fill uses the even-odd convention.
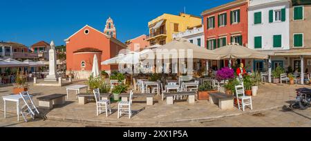
[[[85,84],[85,82],[75,82],[75,84]],[[73,84],[73,85],[75,85]],[[307,86],[311,88],[310,86]],[[79,123],[101,123],[101,124],[162,124],[162,123],[182,123],[191,121],[208,121],[218,118],[226,118],[230,116],[258,113],[270,109],[277,109],[283,105],[289,105],[288,102],[295,100],[295,89],[298,86],[276,86],[273,84],[265,84],[259,86],[258,94],[253,97],[254,110],[247,109],[243,112],[238,109],[222,111],[218,106],[209,104],[208,101],[198,101],[191,105],[185,102],[176,102],[174,105],[167,105],[156,97],[158,100],[153,106],[145,104],[145,98],[133,100],[132,110],[134,115],[131,119],[128,116],[117,119],[117,104],[112,104],[113,114],[106,118],[106,115],[96,116],[96,105],[94,102],[86,105],[79,105],[76,100],[75,93],[70,93],[69,100],[66,105],[56,107],[52,111],[46,113],[48,120],[59,120]],[[12,86],[0,88],[0,97],[8,95],[12,91]],[[54,93],[66,94],[65,87],[51,86],[30,86],[30,94],[35,95],[35,104],[38,105],[37,97],[50,95]],[[143,103],[138,101],[144,101]],[[15,103],[8,103],[9,111],[15,113]],[[0,111],[3,111],[3,100],[0,101]],[[0,114],[0,116],[2,116]],[[12,115],[15,116],[16,115]]]

